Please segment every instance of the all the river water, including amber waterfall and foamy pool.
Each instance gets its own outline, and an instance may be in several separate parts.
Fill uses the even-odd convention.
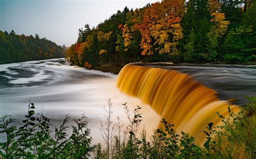
[[[109,73],[69,66],[64,59],[2,64],[0,65],[0,115],[11,114],[21,121],[31,97],[31,102],[36,105],[36,112],[41,112],[43,109],[43,113],[51,119],[53,127],[60,124],[65,114],[70,113],[71,117],[77,118],[85,113],[93,143],[97,143],[103,142],[98,129],[100,127],[98,118],[104,121],[106,113],[103,106],[106,105],[108,98],[113,102],[113,120],[116,121],[116,117],[119,116],[125,125],[128,121],[122,104],[127,102],[130,110],[140,105],[143,108],[143,124],[151,134],[152,129],[158,127],[161,117],[176,122],[183,117],[186,118],[180,126],[190,127],[191,122],[195,121],[203,124],[206,118],[207,120],[215,118],[208,118],[210,112],[215,115],[213,111],[216,109],[212,107],[221,107],[221,110],[226,108],[227,103],[222,100],[235,98],[237,99],[235,104],[242,105],[246,102],[242,95],[251,96],[256,93],[255,66],[169,63],[136,63],[136,65],[137,68],[131,68],[129,71],[123,69],[117,77]],[[153,69],[150,74],[147,73],[152,67],[158,69]],[[123,81],[122,86],[119,85],[120,81]],[[188,84],[184,85],[184,83]],[[188,99],[193,99],[196,104],[192,104]],[[166,104],[166,101],[169,103]],[[205,117],[195,119],[187,115],[194,113]],[[200,122],[202,120],[203,122]],[[19,122],[16,124],[18,125]],[[191,131],[191,129],[186,130]]]

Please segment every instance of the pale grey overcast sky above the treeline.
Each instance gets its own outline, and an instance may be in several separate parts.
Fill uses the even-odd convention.
[[[71,46],[78,29],[97,26],[118,10],[142,8],[157,0],[0,0],[0,30],[39,34],[57,45]]]

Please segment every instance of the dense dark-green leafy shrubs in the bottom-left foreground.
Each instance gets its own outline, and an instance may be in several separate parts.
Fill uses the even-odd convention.
[[[41,113],[35,114],[35,106],[29,104],[23,126],[14,126],[14,119],[5,115],[0,118],[0,133],[6,135],[6,140],[0,142],[0,157],[4,158],[88,158],[95,148],[90,146],[92,138],[84,114],[79,119],[73,119],[72,134],[66,133],[69,126],[66,123],[70,117],[66,115],[55,133],[50,130],[50,119]],[[52,137],[53,136],[53,137]]]

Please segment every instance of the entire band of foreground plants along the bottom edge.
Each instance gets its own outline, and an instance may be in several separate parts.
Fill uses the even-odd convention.
[[[95,158],[255,158],[256,157],[256,96],[246,97],[249,102],[239,113],[228,108],[228,117],[217,113],[223,125],[213,127],[210,122],[204,131],[206,140],[203,146],[194,143],[194,138],[187,133],[179,135],[173,124],[163,119],[163,129],[157,129],[151,140],[147,141],[146,131],[139,132],[142,124],[140,107],[131,114],[123,104],[130,124],[124,128],[118,122],[114,124],[112,103],[107,101],[104,107],[107,115],[101,122],[100,130],[106,143],[102,146],[90,146],[92,138],[87,128],[85,116],[73,119],[72,134],[66,134],[65,117],[62,125],[55,129],[52,137],[50,120],[42,113],[35,117],[35,106],[29,105],[24,126],[17,128],[9,116],[0,118],[0,133],[6,134],[6,141],[0,142],[0,156],[4,158],[88,158],[94,152]]]

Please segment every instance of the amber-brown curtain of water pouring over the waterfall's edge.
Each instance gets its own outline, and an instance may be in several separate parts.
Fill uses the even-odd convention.
[[[161,118],[174,124],[177,132],[190,133],[198,142],[204,139],[207,123],[218,125],[221,119],[216,113],[226,116],[230,105],[213,89],[175,70],[128,64],[118,75],[117,87],[149,104]],[[238,106],[230,106],[239,111]]]

